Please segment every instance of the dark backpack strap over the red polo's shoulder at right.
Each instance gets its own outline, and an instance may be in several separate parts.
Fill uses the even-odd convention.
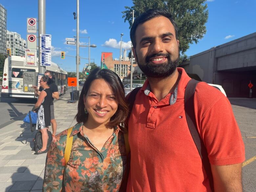
[[[195,142],[199,155],[202,159],[203,167],[210,181],[211,190],[214,191],[213,177],[212,177],[211,165],[208,159],[208,153],[203,143],[203,140],[199,135],[199,132],[197,130],[197,125],[196,125],[196,117],[195,117],[195,110],[194,110],[195,109],[194,94],[195,94],[196,86],[198,83],[199,81],[195,79],[191,79],[187,84],[187,87],[185,89],[185,95],[184,95],[185,115],[186,115],[187,125],[189,128],[190,134]]]

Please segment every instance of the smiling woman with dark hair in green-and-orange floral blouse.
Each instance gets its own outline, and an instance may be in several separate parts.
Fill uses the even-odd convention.
[[[127,115],[118,75],[95,69],[79,97],[70,159],[65,165],[65,130],[53,138],[47,154],[43,191],[118,191],[127,167],[124,130],[118,125]]]

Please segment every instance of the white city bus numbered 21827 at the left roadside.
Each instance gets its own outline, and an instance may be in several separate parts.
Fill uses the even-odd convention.
[[[64,95],[68,88],[67,72],[53,62],[52,66],[46,66],[46,70],[53,73],[53,82],[58,86],[59,95]],[[38,63],[36,66],[26,65],[24,56],[9,56],[5,59],[1,96],[36,98],[33,92],[23,91],[23,72],[36,72],[38,74]]]

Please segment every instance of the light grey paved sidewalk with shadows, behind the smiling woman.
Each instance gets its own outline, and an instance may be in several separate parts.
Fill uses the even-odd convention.
[[[76,123],[78,102],[68,103],[68,100],[70,95],[65,94],[54,102],[57,133]],[[46,153],[34,155],[35,134],[23,118],[0,129],[0,192],[42,191]]]

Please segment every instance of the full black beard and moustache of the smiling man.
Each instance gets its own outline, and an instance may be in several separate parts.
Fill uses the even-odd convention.
[[[153,64],[153,65],[150,64],[150,58],[157,57],[157,56],[166,57],[167,63]],[[138,58],[137,53],[136,53],[136,57]],[[168,77],[172,75],[173,72],[176,70],[178,66],[179,57],[180,57],[179,51],[178,51],[177,58],[171,58],[171,55],[168,53],[156,53],[156,54],[147,56],[145,59],[145,63],[142,63],[138,59],[138,66],[147,77]]]

